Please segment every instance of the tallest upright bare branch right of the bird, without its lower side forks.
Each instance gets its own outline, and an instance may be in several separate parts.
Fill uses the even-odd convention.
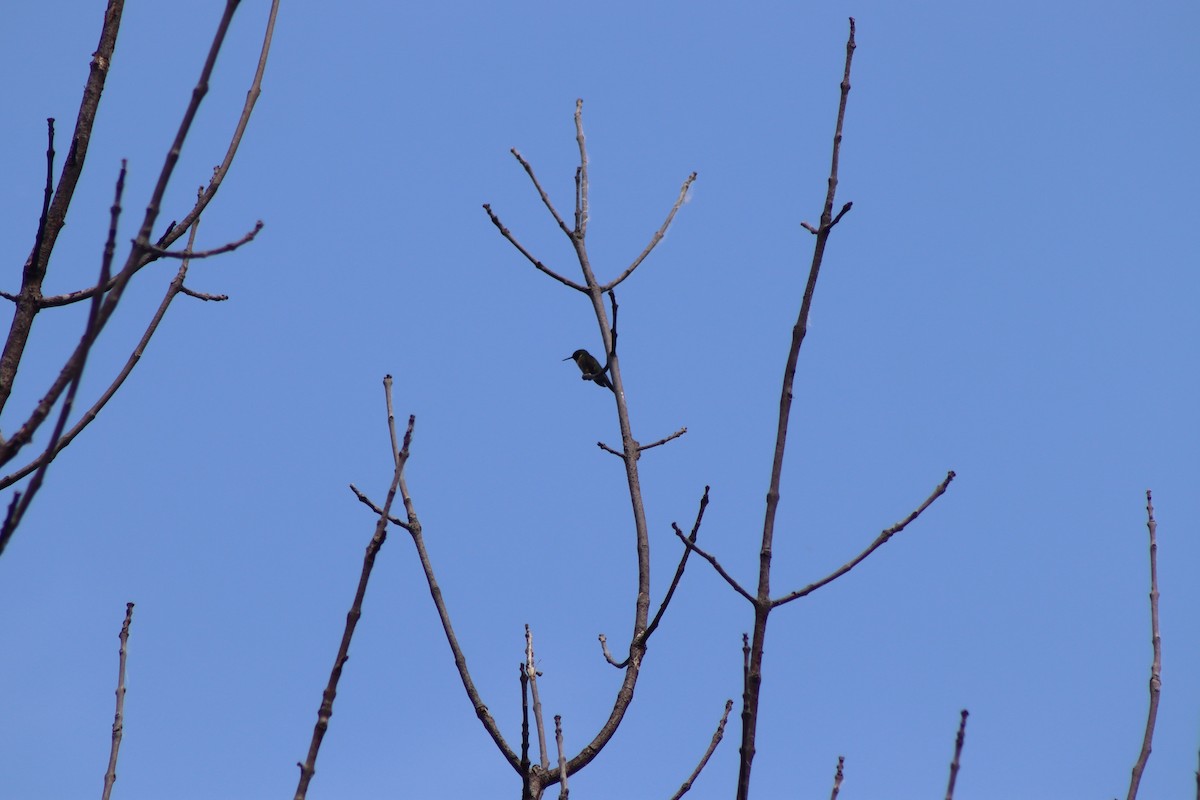
[[[792,385],[796,380],[796,363],[799,360],[800,345],[808,332],[809,311],[812,307],[812,294],[816,290],[817,275],[824,258],[826,242],[829,233],[850,204],[842,209],[835,219],[833,217],[834,194],[838,188],[838,161],[841,152],[841,131],[846,118],[846,101],[850,96],[850,66],[854,58],[854,18],[850,18],[850,36],[846,40],[846,66],[841,79],[841,98],[838,104],[838,122],[833,137],[833,160],[829,167],[829,185],[826,192],[824,207],[821,211],[821,225],[816,234],[812,249],[812,261],[809,267],[809,281],[800,301],[800,312],[792,329],[792,344],[787,353],[787,366],[784,369],[784,386],[779,398],[779,423],[775,428],[775,453],[772,459],[770,485],[767,489],[767,511],[762,525],[762,548],[758,551],[758,593],[755,600],[754,643],[746,668],[745,706],[742,712],[742,747],[738,768],[738,800],[750,796],[750,769],[754,764],[755,734],[758,724],[758,696],[762,688],[762,654],[767,638],[767,616],[770,614],[770,557],[775,534],[775,512],[779,509],[779,483],[784,471],[784,451],[787,446],[787,426],[792,410]],[[810,228],[811,230],[811,228]]]

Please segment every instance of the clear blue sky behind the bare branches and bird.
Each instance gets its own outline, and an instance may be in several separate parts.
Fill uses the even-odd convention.
[[[168,193],[224,149],[266,5],[235,18]],[[94,281],[121,158],[132,237],[218,17],[131,5],[48,291]],[[6,290],[36,228],[44,118],[60,154],[101,2],[19,4],[0,32]],[[800,356],[773,584],[836,567],[959,477],[864,565],[772,618],[755,796],[1117,796],[1151,660],[1145,489],[1159,521],[1163,699],[1141,796],[1188,796],[1200,747],[1200,79],[1192,2],[905,5],[286,2],[263,97],[192,267],[118,398],[56,462],[0,559],[5,796],[98,792],[116,632],[137,603],[116,795],[289,796],[390,479],[380,379],[418,417],[409,486],[473,675],[517,741],[533,626],[547,715],[592,738],[620,675],[632,527],[582,296],[534,271],[565,237],[584,98],[589,249],[636,255],[622,369],[654,591],[706,485],[701,542],[752,583],[791,325],[858,20],[836,229]],[[174,275],[139,275],[90,401]],[[82,309],[47,312],[0,427],[44,390]],[[42,434],[43,437],[46,434]],[[35,443],[36,444],[36,443]],[[0,498],[7,501],[7,498]],[[740,691],[748,604],[689,567],[611,746],[577,796],[665,798]],[[620,645],[617,645],[620,646]],[[407,536],[376,566],[310,796],[508,796]],[[736,712],[734,712],[736,715]],[[732,796],[737,721],[695,798]],[[635,787],[630,789],[629,787]]]

